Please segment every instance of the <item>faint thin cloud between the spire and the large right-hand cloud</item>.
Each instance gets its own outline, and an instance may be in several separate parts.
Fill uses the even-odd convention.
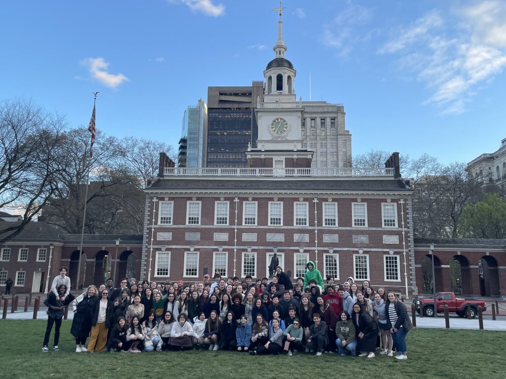
[[[347,56],[353,46],[360,40],[370,37],[364,28],[372,19],[372,10],[349,3],[332,22],[323,25],[322,42],[335,48],[339,55]]]

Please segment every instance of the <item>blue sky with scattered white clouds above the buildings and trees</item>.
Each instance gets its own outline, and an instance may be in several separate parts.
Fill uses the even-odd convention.
[[[263,80],[275,0],[0,4],[0,99],[31,98],[117,137],[177,149],[207,86]],[[297,97],[342,103],[353,154],[469,162],[506,137],[506,2],[285,0]]]

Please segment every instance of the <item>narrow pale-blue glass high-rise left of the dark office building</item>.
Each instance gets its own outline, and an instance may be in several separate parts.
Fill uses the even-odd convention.
[[[189,106],[183,116],[179,141],[179,166],[204,167],[207,134],[207,106],[199,99],[196,106]]]

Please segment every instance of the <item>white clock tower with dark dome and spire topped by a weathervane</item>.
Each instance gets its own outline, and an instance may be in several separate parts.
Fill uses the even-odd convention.
[[[249,167],[311,167],[313,152],[302,148],[301,125],[304,108],[296,101],[294,79],[297,74],[285,58],[283,15],[279,11],[278,39],[274,45],[274,59],[264,71],[264,102],[258,103],[255,116],[258,124],[257,148],[248,147]]]

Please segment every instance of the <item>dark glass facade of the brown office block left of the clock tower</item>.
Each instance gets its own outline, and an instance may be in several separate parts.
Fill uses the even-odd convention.
[[[207,167],[245,167],[244,152],[258,137],[256,123],[249,107],[208,108]]]

